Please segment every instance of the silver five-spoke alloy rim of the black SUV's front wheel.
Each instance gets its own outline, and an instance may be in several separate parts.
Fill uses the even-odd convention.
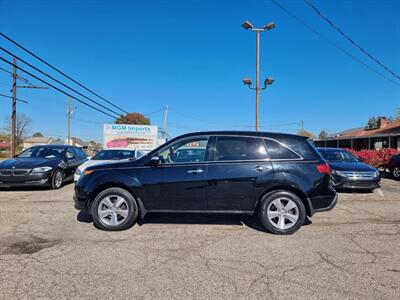
[[[97,213],[103,224],[118,226],[128,217],[129,206],[123,197],[110,195],[100,201]]]

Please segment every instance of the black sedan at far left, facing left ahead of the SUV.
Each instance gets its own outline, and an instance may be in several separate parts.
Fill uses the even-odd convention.
[[[72,180],[75,169],[86,161],[78,147],[33,146],[20,155],[0,162],[0,187],[50,186],[58,189]]]

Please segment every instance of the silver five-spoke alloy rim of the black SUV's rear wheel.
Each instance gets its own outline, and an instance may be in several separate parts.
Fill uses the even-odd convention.
[[[268,205],[267,217],[275,228],[290,229],[299,219],[299,208],[289,198],[277,198]]]

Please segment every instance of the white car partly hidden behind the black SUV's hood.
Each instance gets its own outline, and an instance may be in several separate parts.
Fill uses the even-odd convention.
[[[91,159],[76,168],[74,182],[76,183],[79,180],[82,172],[89,166],[101,163],[113,163],[123,159],[138,159],[143,155],[144,153],[141,150],[135,149],[103,149]]]

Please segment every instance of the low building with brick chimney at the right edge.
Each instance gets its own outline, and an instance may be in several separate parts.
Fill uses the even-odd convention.
[[[400,120],[389,122],[386,118],[378,118],[378,128],[348,129],[326,139],[314,139],[317,147],[340,147],[361,149],[397,148],[400,150]]]

